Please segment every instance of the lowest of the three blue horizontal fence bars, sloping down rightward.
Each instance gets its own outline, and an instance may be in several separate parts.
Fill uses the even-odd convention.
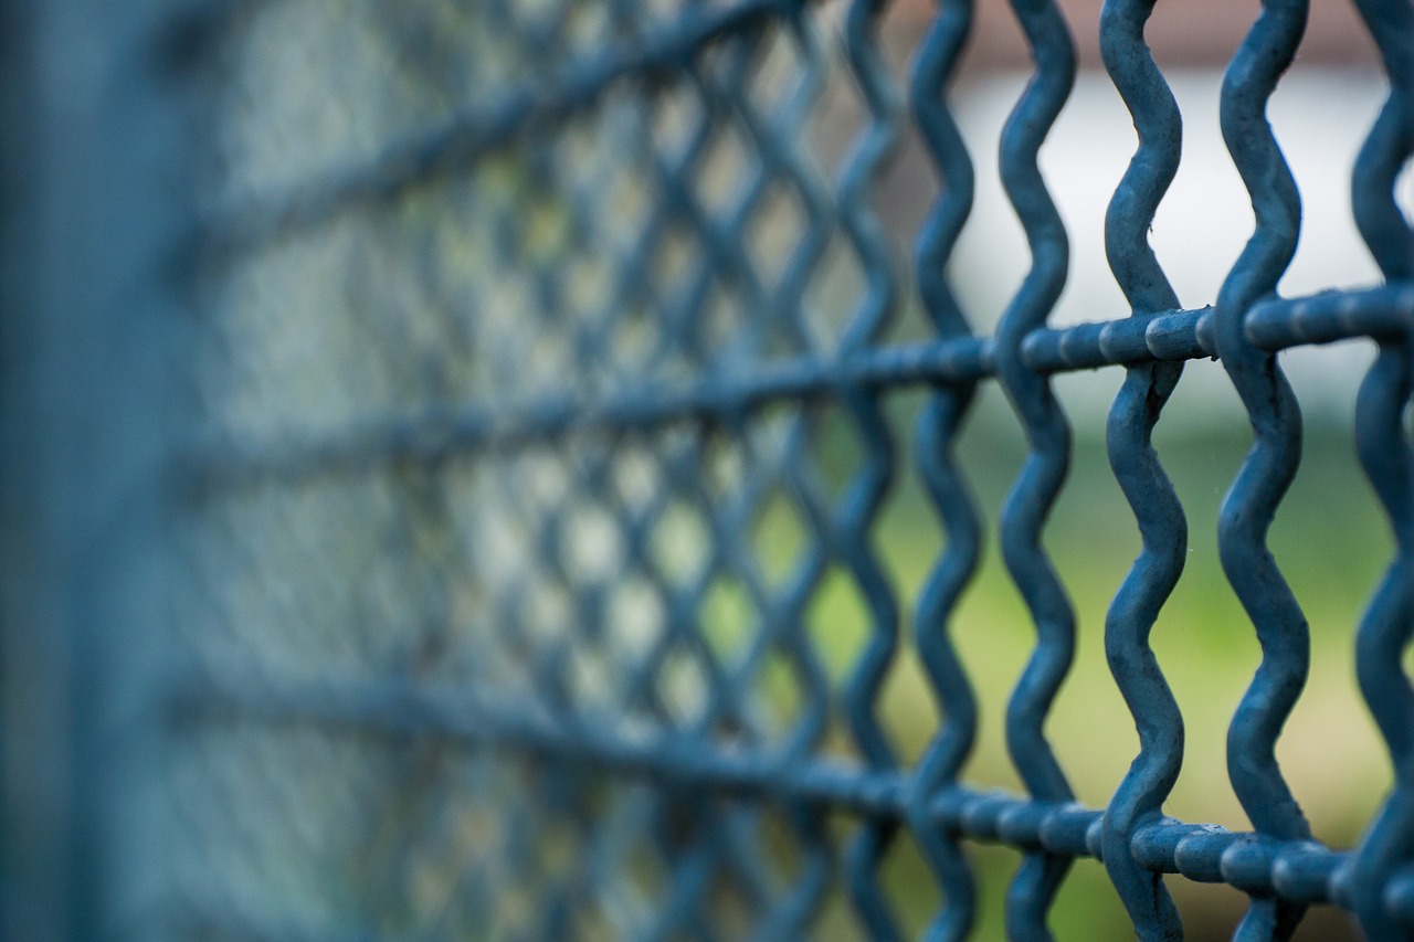
[[[663,786],[820,805],[895,822],[908,819],[915,801],[909,775],[899,771],[723,748],[691,734],[628,738],[605,733],[604,717],[547,716],[523,703],[496,703],[477,692],[426,683],[204,675],[178,682],[168,709],[178,728],[228,720],[314,724],[346,734],[437,735],[469,748],[499,748]],[[1070,857],[1102,859],[1102,815],[1076,802],[1036,802],[960,785],[928,801],[928,816],[947,833]],[[1168,819],[1140,829],[1133,853],[1154,873],[1230,883],[1249,892],[1298,902],[1349,897],[1350,854],[1315,842],[1280,842]],[[1391,885],[1390,909],[1414,928],[1414,908],[1403,894],[1403,883]]]

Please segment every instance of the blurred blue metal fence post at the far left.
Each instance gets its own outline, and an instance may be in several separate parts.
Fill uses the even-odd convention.
[[[171,3],[0,4],[0,690],[10,939],[126,935],[151,836],[181,396]],[[160,830],[160,827],[156,827]],[[139,932],[139,935],[143,935]]]

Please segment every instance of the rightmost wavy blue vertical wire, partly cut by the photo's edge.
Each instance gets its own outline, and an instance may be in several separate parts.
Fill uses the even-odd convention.
[[[1356,0],[1380,51],[1390,93],[1356,158],[1350,205],[1386,283],[1414,280],[1414,226],[1394,199],[1400,170],[1414,157],[1414,6]],[[1356,400],[1356,451],[1394,530],[1390,563],[1356,632],[1356,676],[1394,765],[1394,788],[1356,849],[1350,904],[1374,942],[1411,939],[1386,907],[1397,867],[1414,863],[1414,686],[1403,655],[1414,636],[1414,453],[1404,412],[1414,390],[1408,337],[1380,341]]]

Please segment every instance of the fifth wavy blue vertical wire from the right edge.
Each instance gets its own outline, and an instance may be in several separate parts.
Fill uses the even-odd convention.
[[[971,212],[973,165],[946,89],[971,33],[973,0],[940,0],[939,7],[912,76],[913,115],[943,187],[918,238],[918,287],[939,337],[970,337],[946,267]],[[949,636],[949,621],[981,554],[976,502],[953,457],[974,389],[976,383],[937,386],[918,417],[919,477],[947,530],[947,549],[923,584],[913,622],[918,658],[943,709],[943,726],[919,760],[909,801],[909,825],[945,895],[925,936],[935,942],[960,942],[977,918],[976,878],[962,842],[940,832],[930,813],[932,799],[957,785],[977,738],[977,699]]]

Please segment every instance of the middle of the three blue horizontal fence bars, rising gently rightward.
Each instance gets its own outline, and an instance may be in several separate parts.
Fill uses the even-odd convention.
[[[1389,286],[1266,301],[1253,308],[1247,334],[1257,347],[1281,351],[1406,334],[1411,327],[1414,287]],[[723,420],[782,399],[836,396],[844,389],[970,383],[994,373],[994,342],[960,337],[865,348],[834,359],[768,361],[742,375],[706,373],[686,388],[625,385],[598,403],[566,393],[496,409],[438,407],[344,434],[290,433],[262,447],[209,446],[187,460],[180,484],[199,494],[386,464],[438,463],[478,450],[515,450],[570,431],[643,433],[676,421]],[[1212,308],[1041,328],[1022,341],[1021,355],[1038,373],[1216,358]]]

